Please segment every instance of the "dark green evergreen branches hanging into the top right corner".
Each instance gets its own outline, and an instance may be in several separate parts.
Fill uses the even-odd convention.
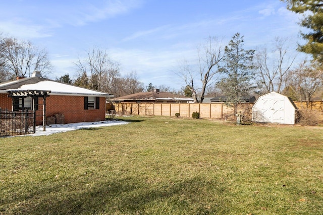
[[[305,45],[300,45],[299,50],[313,56],[323,64],[323,2],[321,0],[281,0],[287,3],[287,8],[295,13],[303,14],[304,19],[300,22],[302,27],[309,29],[306,33],[301,32],[307,40]]]

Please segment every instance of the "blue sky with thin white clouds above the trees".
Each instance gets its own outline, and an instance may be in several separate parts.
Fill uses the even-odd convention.
[[[55,66],[49,78],[75,77],[73,62],[93,47],[106,49],[121,74],[136,71],[147,86],[180,89],[181,61],[197,59],[209,36],[226,45],[239,32],[244,48],[288,37],[296,48],[298,17],[279,0],[3,1],[0,32],[46,48]]]

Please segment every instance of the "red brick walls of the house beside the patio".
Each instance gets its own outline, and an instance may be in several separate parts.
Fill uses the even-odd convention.
[[[39,98],[36,122],[42,122],[43,100]],[[12,110],[12,99],[7,94],[0,94],[0,107]],[[64,123],[93,122],[105,120],[105,97],[100,97],[100,108],[84,110],[83,96],[53,96],[46,98],[46,117],[64,114]]]

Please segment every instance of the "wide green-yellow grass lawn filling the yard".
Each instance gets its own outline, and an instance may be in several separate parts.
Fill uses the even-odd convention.
[[[323,128],[125,117],[0,138],[0,214],[323,214]]]

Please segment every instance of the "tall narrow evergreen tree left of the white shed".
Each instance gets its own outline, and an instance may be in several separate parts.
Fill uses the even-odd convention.
[[[243,36],[236,33],[225,47],[224,64],[220,67],[225,77],[218,83],[219,89],[227,96],[226,104],[234,106],[234,114],[238,103],[255,88],[251,83],[254,50],[244,50],[242,46]]]

